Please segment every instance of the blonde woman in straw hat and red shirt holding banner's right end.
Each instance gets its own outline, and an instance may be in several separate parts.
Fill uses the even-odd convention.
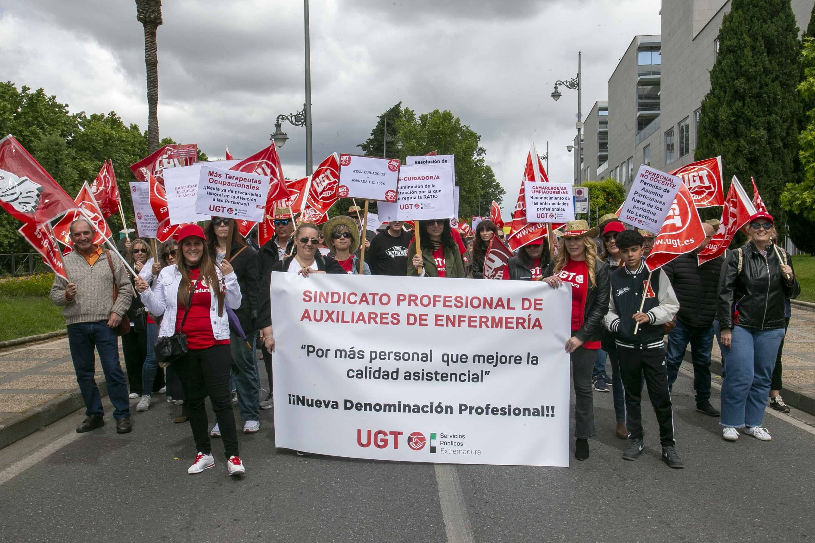
[[[559,251],[544,271],[544,281],[558,288],[571,284],[571,338],[566,353],[571,357],[575,382],[575,458],[588,458],[588,438],[594,428],[592,370],[600,348],[602,319],[609,309],[609,269],[597,258],[594,238],[599,229],[586,221],[566,223]]]

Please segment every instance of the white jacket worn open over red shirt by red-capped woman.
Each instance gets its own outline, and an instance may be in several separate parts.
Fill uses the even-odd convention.
[[[240,308],[240,286],[238,285],[238,276],[235,272],[227,274],[222,278],[221,270],[217,267],[215,271],[218,272],[218,283],[220,284],[223,279],[227,288],[226,305],[231,309]],[[139,294],[142,298],[142,303],[148,311],[154,315],[164,315],[161,319],[161,328],[159,328],[158,336],[160,338],[169,337],[175,333],[175,317],[178,314],[178,283],[181,282],[181,272],[178,271],[176,265],[166,266],[161,269],[158,278],[154,282],[154,288],[148,288]],[[206,286],[204,279],[201,279],[201,284]],[[215,286],[218,288],[218,285]],[[223,314],[218,316],[218,296],[216,296],[214,288],[209,285],[210,304],[209,304],[209,317],[212,322],[212,333],[215,339],[229,339],[229,317],[227,316],[227,309],[223,309]]]

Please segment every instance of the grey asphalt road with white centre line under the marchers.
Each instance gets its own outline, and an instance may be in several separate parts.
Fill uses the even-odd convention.
[[[693,409],[685,370],[673,392],[684,470],[660,462],[650,409],[645,455],[623,461],[611,394],[596,392],[591,458],[570,468],[299,458],[275,450],[270,409],[258,434],[240,436],[245,477],[227,475],[219,443],[217,466],[187,475],[192,434],[172,423],[179,408],[158,398],[134,413],[128,435],[112,422],[78,435],[77,413],[0,451],[0,541],[815,538],[815,418],[768,410],[773,441],[725,442],[718,419]]]

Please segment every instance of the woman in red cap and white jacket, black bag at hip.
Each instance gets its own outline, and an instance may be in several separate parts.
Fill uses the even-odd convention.
[[[182,332],[187,335],[187,355],[173,362],[187,395],[187,413],[198,449],[187,473],[200,473],[215,465],[204,405],[209,395],[223,438],[227,471],[229,475],[240,475],[246,469],[238,456],[232,414],[232,357],[226,310],[226,306],[240,307],[240,286],[228,261],[215,265],[200,226],[184,226],[178,232],[178,246],[181,248],[178,261],[161,269],[156,290],[151,290],[143,278],[136,278],[136,290],[151,313],[164,315],[159,338]]]

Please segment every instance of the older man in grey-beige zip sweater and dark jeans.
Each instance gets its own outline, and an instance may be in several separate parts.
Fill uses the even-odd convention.
[[[85,420],[77,432],[104,426],[104,409],[99,388],[94,380],[94,347],[99,351],[108,396],[113,404],[116,431],[126,434],[130,427],[130,400],[127,397],[125,374],[119,364],[117,327],[130,307],[133,288],[125,266],[117,256],[108,254],[93,243],[94,227],[86,219],[77,219],[70,226],[74,251],[63,256],[64,278],[55,276],[51,301],[63,306],[62,314],[68,327],[68,346],[73,368],[85,401]],[[113,299],[113,284],[119,291]]]

